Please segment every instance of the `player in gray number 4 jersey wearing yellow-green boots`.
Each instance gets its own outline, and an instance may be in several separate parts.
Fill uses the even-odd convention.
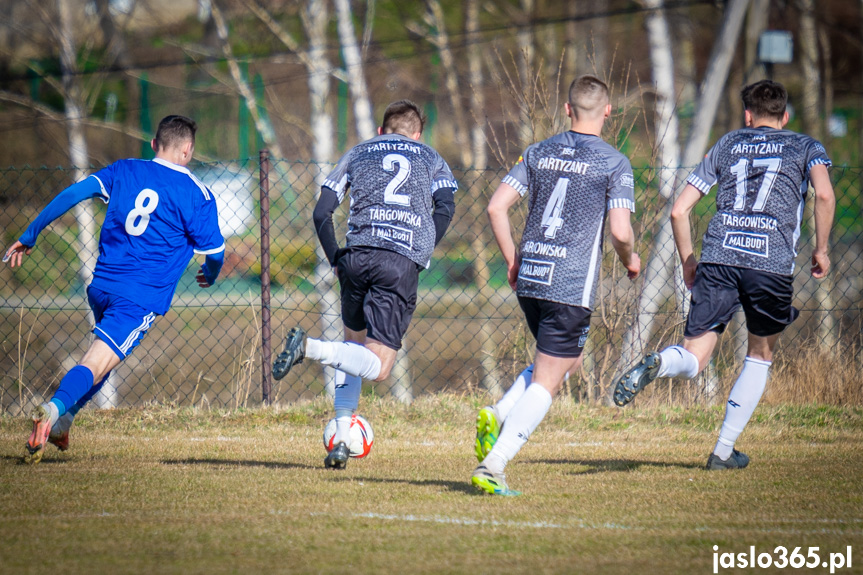
[[[477,416],[480,465],[471,483],[493,495],[518,495],[507,486],[504,468],[545,417],[565,374],[581,365],[606,213],[614,249],[630,279],[641,270],[630,224],[632,168],[599,137],[611,113],[608,87],[594,76],[580,76],[564,108],[570,131],[528,147],[488,207],[509,284],[536,339],[534,364],[496,405]],[[528,215],[516,250],[509,210],[524,195],[529,196]]]

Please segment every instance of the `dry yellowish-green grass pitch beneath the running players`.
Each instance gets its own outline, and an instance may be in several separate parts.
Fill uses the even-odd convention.
[[[711,573],[714,545],[851,546],[836,572],[863,573],[861,408],[762,406],[750,467],[707,472],[721,407],[558,400],[508,468],[524,495],[493,498],[468,484],[480,402],[364,397],[375,446],[345,471],[324,400],[85,411],[36,467],[0,416],[0,573]]]

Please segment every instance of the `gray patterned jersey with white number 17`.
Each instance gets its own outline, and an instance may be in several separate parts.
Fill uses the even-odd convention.
[[[705,195],[718,185],[701,261],[791,275],[809,170],[817,164],[830,165],[824,146],[790,130],[723,136],[686,180]]]

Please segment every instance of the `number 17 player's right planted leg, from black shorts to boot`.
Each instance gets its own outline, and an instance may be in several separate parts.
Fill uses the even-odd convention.
[[[734,449],[734,445],[767,387],[779,335],[798,316],[797,309],[791,305],[790,277],[747,270],[741,276],[740,291],[749,345],[743,369],[728,395],[725,419],[719,440],[707,460],[707,469],[734,469],[749,464],[749,457]]]

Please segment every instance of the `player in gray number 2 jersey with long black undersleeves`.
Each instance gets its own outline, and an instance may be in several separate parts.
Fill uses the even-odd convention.
[[[307,338],[292,329],[273,364],[281,379],[304,357],[337,368],[336,433],[324,460],[347,464],[351,415],[362,379],[389,377],[416,308],[419,271],[428,266],[455,212],[458,187],[449,166],[419,142],[424,118],[413,102],[390,104],[378,136],[354,146],[327,176],[315,206],[315,231],[341,288],[344,342]],[[345,248],[333,212],[350,188]]]

